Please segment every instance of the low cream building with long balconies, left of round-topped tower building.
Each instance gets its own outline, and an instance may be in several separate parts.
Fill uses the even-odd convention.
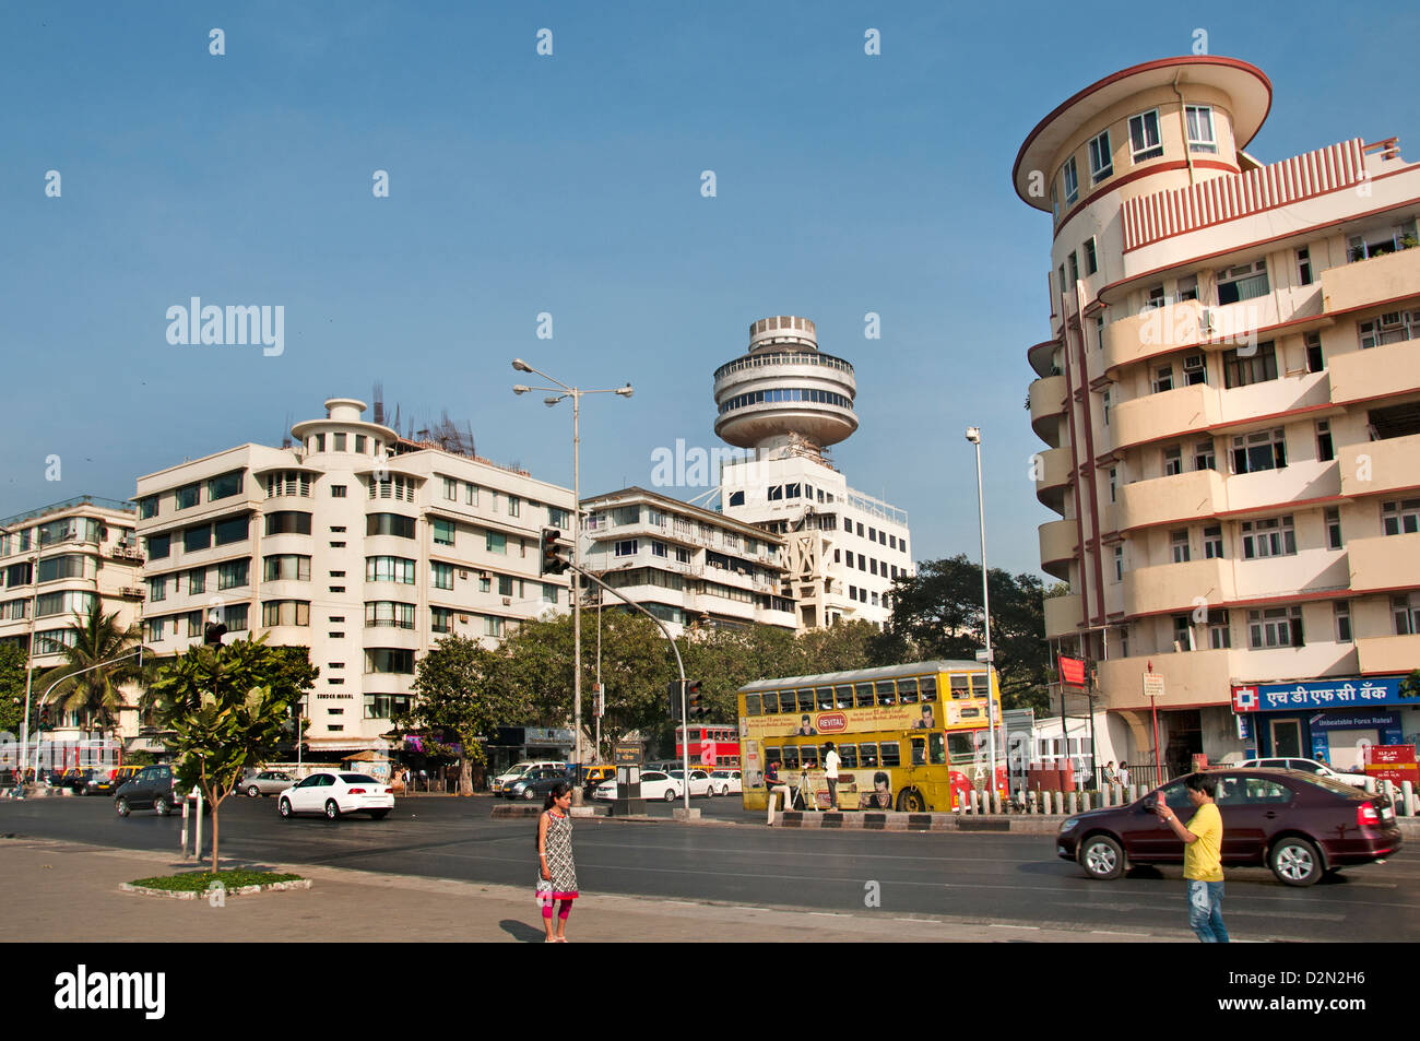
[[[673,636],[692,625],[797,628],[782,537],[645,489],[584,498],[582,510],[582,567]]]

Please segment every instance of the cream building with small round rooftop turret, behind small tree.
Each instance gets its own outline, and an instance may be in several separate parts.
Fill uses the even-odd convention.
[[[202,641],[209,609],[231,639],[311,648],[312,756],[373,747],[443,636],[498,641],[568,609],[541,577],[542,527],[568,530],[572,493],[521,470],[410,442],[325,402],[294,447],[241,445],[138,479],[145,635],[159,653]]]

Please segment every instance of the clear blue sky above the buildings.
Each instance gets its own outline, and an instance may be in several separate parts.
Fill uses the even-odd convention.
[[[1414,10],[1064,13],[9,6],[0,516],[126,498],[141,473],[280,443],[287,416],[369,400],[376,379],[406,413],[471,423],[480,454],[571,484],[567,406],[515,398],[514,356],[584,386],[632,381],[630,400],[585,402],[582,490],[648,484],[656,447],[719,445],[710,378],[750,322],[801,314],[858,372],[861,427],[836,463],[909,511],[913,555],[977,557],[961,430],[980,425],[988,558],[1038,572],[1052,514],[1022,405],[1025,348],[1048,332],[1049,220],[1010,180],[1030,129],[1100,77],[1189,53],[1201,27],[1274,84],[1248,148],[1264,162],[1416,131],[1396,57]],[[284,354],[170,345],[166,310],[193,295],[283,305]],[[869,311],[880,339],[863,337]]]

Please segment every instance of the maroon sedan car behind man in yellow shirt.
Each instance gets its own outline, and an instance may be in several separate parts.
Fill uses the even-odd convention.
[[[1223,814],[1223,865],[1268,866],[1289,886],[1309,886],[1346,865],[1400,848],[1390,800],[1295,770],[1210,770]],[[1075,814],[1061,824],[1055,852],[1091,878],[1129,866],[1183,863],[1183,842],[1153,807],[1163,797],[1187,824],[1193,804],[1183,778],[1126,807]]]

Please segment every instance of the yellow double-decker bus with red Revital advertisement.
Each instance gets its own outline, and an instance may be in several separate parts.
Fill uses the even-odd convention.
[[[764,771],[780,763],[781,781],[807,785],[819,810],[951,811],[964,792],[991,788],[993,702],[995,788],[1005,788],[1000,683],[977,662],[785,676],[737,693],[746,810],[767,807]],[[832,807],[828,741],[841,760]]]

